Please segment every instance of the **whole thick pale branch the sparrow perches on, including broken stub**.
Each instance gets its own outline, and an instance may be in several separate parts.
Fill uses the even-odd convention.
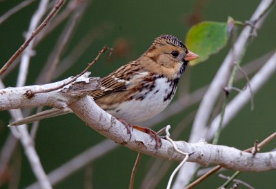
[[[172,144],[164,139],[162,139],[162,146],[158,150],[155,149],[155,141],[152,141],[149,135],[139,130],[133,130],[132,137],[129,139],[130,135],[127,134],[125,126],[120,121],[117,121],[115,117],[112,117],[112,115],[109,115],[99,108],[91,97],[85,94],[83,95],[83,92],[85,93],[86,90],[91,90],[91,86],[94,88],[95,86],[99,87],[98,79],[89,79],[87,76],[88,74],[78,79],[78,81],[71,83],[70,86],[66,86],[60,90],[46,92],[45,94],[34,94],[33,97],[29,97],[28,99],[29,106],[24,102],[26,101],[26,97],[24,97],[26,90],[34,91],[37,88],[45,89],[49,86],[55,86],[57,83],[50,83],[43,86],[28,86],[25,88],[7,88],[5,92],[1,90],[0,93],[3,97],[8,98],[8,92],[17,91],[15,95],[17,95],[17,101],[19,103],[10,103],[16,104],[15,106],[10,106],[10,108],[22,108],[21,106],[24,108],[33,107],[35,103],[38,103],[39,98],[47,98],[48,100],[44,101],[45,104],[39,102],[38,105],[59,107],[62,104],[63,107],[70,108],[75,112],[88,126],[116,143],[120,143],[132,150],[143,152],[153,157],[162,157],[175,161],[184,159],[184,155],[175,152]],[[53,96],[50,97],[52,94]],[[14,97],[10,101],[14,101]],[[210,145],[202,141],[198,143],[177,141],[176,144],[177,148],[183,152],[195,151],[195,154],[191,155],[188,161],[201,163],[204,166],[209,163],[215,163],[226,168],[241,171],[266,171],[276,169],[276,152],[258,153],[253,156],[250,153],[242,152],[235,148]]]

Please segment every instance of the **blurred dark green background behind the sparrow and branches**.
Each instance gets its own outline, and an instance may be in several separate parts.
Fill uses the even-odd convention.
[[[0,16],[20,2],[0,1]],[[106,74],[119,68],[119,66],[137,59],[148,49],[155,37],[158,37],[160,34],[172,34],[181,39],[181,41],[185,41],[188,29],[195,23],[199,21],[225,22],[228,16],[239,21],[246,21],[251,17],[259,4],[257,0],[95,0],[78,2],[81,6],[72,10],[68,14],[68,17],[59,23],[59,26],[54,28],[44,39],[41,39],[42,41],[35,47],[35,55],[30,61],[26,85],[32,85],[37,82],[43,66],[49,61],[52,50],[57,46],[63,28],[66,27],[68,21],[72,19],[72,15],[76,12],[81,12],[81,15],[77,20],[77,26],[72,33],[72,37],[70,37],[70,41],[68,41],[68,45],[64,47],[65,49],[60,58],[61,63],[52,81],[59,81],[81,72],[86,68],[87,63],[95,59],[99,50],[104,45],[114,50],[112,50],[111,55],[109,52],[103,54],[95,66],[92,66],[90,69],[92,76],[104,77]],[[55,1],[52,1],[53,3]],[[59,14],[63,10],[66,10],[70,3],[72,1],[66,1]],[[7,21],[1,23],[1,66],[8,61],[11,55],[23,43],[23,34],[28,30],[30,19],[38,5],[39,1],[34,1],[26,8],[13,14]],[[266,18],[264,26],[258,31],[257,38],[250,43],[242,65],[264,56],[268,52],[271,52],[271,50],[275,50],[275,17],[276,10],[273,8]],[[241,29],[239,28],[238,31]],[[226,48],[210,57],[208,61],[188,68],[179,83],[174,101],[183,95],[208,86],[230,47],[231,40]],[[72,66],[67,69],[66,67],[70,63],[72,63]],[[262,66],[262,63],[259,65]],[[16,85],[18,71],[19,66],[2,77],[6,87]],[[250,76],[252,75],[250,74]],[[39,83],[43,83],[43,79]],[[246,81],[242,79],[235,83],[235,86],[242,88],[245,83]],[[228,124],[228,127],[222,131],[219,144],[246,149],[253,146],[255,139],[261,141],[275,132],[275,83],[276,76],[274,75],[255,95],[255,109],[251,111],[249,104],[245,106],[238,113],[237,117]],[[221,94],[223,93],[221,92]],[[232,92],[230,97],[234,97],[235,94],[237,93]],[[188,140],[190,126],[193,123],[193,116],[198,105],[199,103],[194,103],[193,106],[184,108],[184,110],[176,115],[155,124],[153,129],[159,130],[166,126],[166,124],[170,124],[172,126],[171,132],[173,132],[174,128],[181,130],[181,135],[173,139]],[[34,112],[35,110],[32,110],[32,113]],[[28,113],[28,110],[26,113]],[[10,115],[8,112],[0,112],[0,148],[4,146],[10,135],[10,129],[7,127],[9,122]],[[145,123],[145,125],[150,123],[152,122]],[[43,168],[48,173],[105,139],[105,137],[87,127],[85,123],[71,114],[41,121],[35,139],[35,147]],[[268,144],[262,151],[265,152],[273,148],[275,148],[275,141]],[[70,177],[57,183],[54,188],[128,188],[136,156],[137,152],[118,146],[114,150],[110,150],[106,155],[90,162],[85,168],[78,170],[70,175]],[[156,160],[159,164],[156,163]],[[153,169],[156,170],[156,173],[146,177],[152,164],[159,165]],[[18,181],[18,188],[25,188],[36,181],[20,144],[17,145],[17,150],[14,151],[9,165],[5,175],[1,175],[0,177],[2,183],[0,188],[9,188],[9,182],[11,181],[15,183]],[[145,188],[145,186],[165,188],[170,174],[176,166],[177,162],[170,162],[168,164],[165,161],[161,161],[161,159],[144,155],[137,172],[137,178],[135,179],[135,188]],[[166,171],[159,170],[159,168],[166,167],[168,167]],[[162,177],[158,176],[158,179],[155,180],[155,175],[160,171],[164,175]],[[233,171],[229,170],[224,172],[224,175],[232,175],[233,173]],[[275,171],[244,172],[238,179],[250,183],[255,188],[275,188],[275,176]],[[148,180],[146,179],[153,179],[157,183],[155,185],[147,183]],[[197,186],[197,188],[216,188],[221,183],[224,183],[224,181],[224,179],[219,178],[215,174]],[[17,188],[16,186],[17,184],[15,184],[14,188]],[[241,186],[240,188],[243,187]]]

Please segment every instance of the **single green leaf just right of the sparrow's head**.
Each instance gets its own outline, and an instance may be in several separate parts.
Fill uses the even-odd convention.
[[[190,65],[205,61],[211,54],[219,52],[228,41],[228,23],[203,21],[190,28],[186,36],[188,50],[199,55]]]

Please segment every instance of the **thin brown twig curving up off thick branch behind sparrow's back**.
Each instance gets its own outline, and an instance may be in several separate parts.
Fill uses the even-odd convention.
[[[30,92],[31,93],[30,95],[32,96],[33,94],[37,94],[37,93],[50,92],[50,91],[53,91],[53,90],[58,90],[59,88],[63,88],[64,86],[67,86],[68,84],[72,83],[73,81],[76,81],[76,79],[81,77],[81,75],[85,74],[89,70],[89,68],[91,68],[91,66],[93,66],[99,60],[99,57],[101,57],[101,54],[103,54],[103,52],[105,52],[106,50],[108,50],[108,47],[103,46],[103,48],[99,51],[99,54],[97,55],[97,57],[91,63],[88,64],[86,69],[84,69],[80,74],[77,74],[77,76],[75,76],[72,79],[66,81],[62,85],[57,86],[55,88],[50,88],[50,89],[47,89],[47,90],[32,91],[32,92]]]

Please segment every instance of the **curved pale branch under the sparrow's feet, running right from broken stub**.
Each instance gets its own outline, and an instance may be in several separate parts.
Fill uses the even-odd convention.
[[[125,126],[103,111],[93,101],[91,97],[85,96],[81,99],[73,99],[69,108],[81,118],[88,126],[97,130],[105,137],[112,139],[116,143],[120,143],[131,150],[143,152],[153,157],[162,157],[175,161],[184,159],[183,155],[175,152],[169,141],[162,139],[162,146],[158,150],[155,149],[155,141],[138,130],[133,130],[132,137],[126,133]],[[198,143],[186,143],[184,141],[176,141],[177,148],[183,152],[193,152],[188,161],[201,163],[207,166],[210,163],[219,164],[225,168],[240,171],[266,171],[276,169],[276,152],[259,153],[255,156],[248,152],[242,152],[236,148],[227,146],[219,146],[199,141]]]

